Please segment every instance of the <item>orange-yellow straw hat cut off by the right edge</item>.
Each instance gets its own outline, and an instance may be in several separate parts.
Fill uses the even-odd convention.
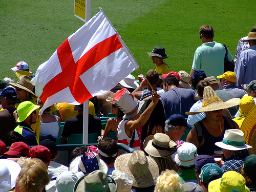
[[[245,116],[240,130],[244,133],[244,140],[246,144],[250,143],[250,138],[256,130],[256,106]]]

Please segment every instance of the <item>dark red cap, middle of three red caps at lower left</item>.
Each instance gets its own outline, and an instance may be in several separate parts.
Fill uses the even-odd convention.
[[[24,153],[26,156],[29,157],[29,151],[30,151],[29,145],[27,145],[22,141],[19,141],[19,142],[12,143],[9,151],[4,153],[4,156],[5,155],[15,156],[20,153]]]

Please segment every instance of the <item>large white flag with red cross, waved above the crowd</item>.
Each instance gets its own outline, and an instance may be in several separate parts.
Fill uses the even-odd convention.
[[[111,90],[138,63],[102,9],[42,63],[32,83],[44,103],[80,104]]]

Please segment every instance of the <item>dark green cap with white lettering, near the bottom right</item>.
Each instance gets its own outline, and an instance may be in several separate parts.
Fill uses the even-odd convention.
[[[199,177],[204,183],[209,183],[212,177],[221,178],[222,174],[222,170],[217,163],[207,163],[201,168]]]

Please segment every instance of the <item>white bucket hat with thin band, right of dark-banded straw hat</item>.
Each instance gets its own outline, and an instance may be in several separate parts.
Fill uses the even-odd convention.
[[[193,143],[185,142],[177,150],[174,161],[179,166],[194,165],[197,157],[197,147]]]

